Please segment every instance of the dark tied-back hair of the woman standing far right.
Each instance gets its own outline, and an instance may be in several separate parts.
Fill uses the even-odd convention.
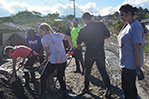
[[[120,7],[119,11],[123,11],[125,13],[130,12],[132,14],[132,16],[134,16],[135,12],[137,12],[138,9],[136,7],[129,5],[129,4],[125,4]]]

